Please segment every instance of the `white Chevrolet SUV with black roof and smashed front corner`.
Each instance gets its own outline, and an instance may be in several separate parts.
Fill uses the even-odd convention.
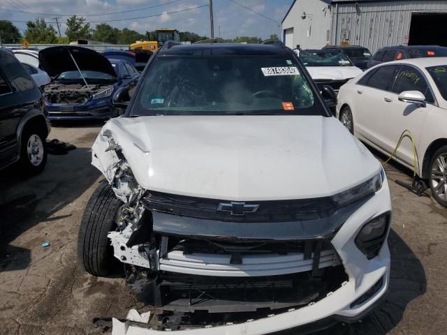
[[[388,289],[381,164],[287,47],[165,43],[92,151],[106,180],[80,263],[106,276],[121,262],[129,288],[171,311],[138,334],[327,327]]]

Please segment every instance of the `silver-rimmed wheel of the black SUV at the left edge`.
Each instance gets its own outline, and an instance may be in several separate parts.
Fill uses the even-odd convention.
[[[20,140],[20,160],[18,165],[24,174],[39,174],[47,164],[45,137],[38,129],[25,128]]]

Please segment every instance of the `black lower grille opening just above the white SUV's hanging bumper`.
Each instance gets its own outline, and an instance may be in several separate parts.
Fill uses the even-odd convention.
[[[318,276],[207,277],[163,272],[159,276],[165,311],[209,313],[273,311],[305,306],[326,297],[348,281],[344,267],[328,267]]]

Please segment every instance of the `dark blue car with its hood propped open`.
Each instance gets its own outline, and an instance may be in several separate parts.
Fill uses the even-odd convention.
[[[120,114],[113,105],[119,89],[140,76],[130,64],[114,66],[102,54],[85,47],[61,45],[39,52],[41,67],[52,77],[45,86],[48,119],[109,119]],[[127,68],[131,68],[129,73]],[[122,69],[119,71],[118,69]]]

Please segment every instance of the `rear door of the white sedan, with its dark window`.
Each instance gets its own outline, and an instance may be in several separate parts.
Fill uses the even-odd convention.
[[[387,119],[385,98],[390,94],[399,65],[383,65],[367,73],[356,85],[354,124],[358,137],[365,142],[385,147],[383,121]]]

